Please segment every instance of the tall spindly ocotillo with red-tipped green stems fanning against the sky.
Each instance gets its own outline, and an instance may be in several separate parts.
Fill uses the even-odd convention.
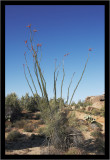
[[[38,85],[39,85],[39,88],[40,88],[42,97],[44,97],[44,98],[46,99],[47,106],[48,106],[48,108],[49,108],[49,110],[50,110],[50,112],[51,112],[51,107],[50,107],[50,105],[49,105],[49,100],[48,100],[48,93],[47,93],[47,89],[46,89],[46,81],[45,81],[45,78],[44,78],[44,75],[43,75],[43,72],[42,72],[41,66],[40,66],[41,58],[42,58],[42,50],[41,50],[42,44],[40,44],[40,43],[38,43],[38,44],[36,44],[36,45],[34,44],[34,34],[35,34],[35,32],[37,32],[38,30],[34,29],[33,32],[32,32],[32,30],[31,30],[31,25],[28,25],[28,26],[26,26],[26,27],[29,28],[29,32],[30,32],[30,44],[31,44],[31,46],[28,45],[28,40],[25,40],[25,44],[26,44],[26,47],[27,47],[27,49],[29,50],[29,52],[32,53],[33,62],[34,62],[34,72],[35,72],[35,75],[36,75],[36,79],[37,79],[37,82],[38,82]],[[36,46],[37,46],[37,49],[36,49]],[[40,49],[40,52],[41,52],[40,58],[38,57],[39,49]],[[25,56],[25,61],[26,61],[26,67],[27,67],[28,72],[29,72],[29,75],[30,75],[30,77],[31,77],[31,81],[32,81],[32,84],[33,84],[33,86],[34,86],[35,92],[36,92],[36,94],[38,94],[38,93],[37,93],[37,87],[36,87],[35,82],[34,82],[34,80],[33,80],[33,78],[32,78],[31,71],[30,71],[29,66],[28,66],[28,63],[27,63],[26,54],[27,54],[27,53],[25,52],[24,56]],[[64,57],[63,57],[63,78],[62,78],[62,82],[61,82],[61,99],[62,99],[62,95],[63,95],[63,84],[64,84],[64,78],[65,78],[64,58],[65,58],[66,56],[68,56],[69,54],[70,54],[70,53],[67,53],[67,54],[65,54]],[[88,59],[89,59],[89,54],[88,54]],[[79,86],[79,83],[80,83],[81,80],[82,80],[82,77],[83,77],[83,75],[84,75],[84,72],[85,72],[85,69],[86,69],[86,66],[87,66],[87,63],[88,63],[88,59],[87,59],[87,61],[86,61],[85,67],[84,67],[83,72],[82,72],[82,75],[81,75],[81,77],[80,77],[80,79],[79,79],[79,81],[78,81],[78,83],[77,83],[77,85],[76,85],[76,87],[75,87],[75,89],[74,89],[74,91],[73,91],[73,94],[72,94],[72,96],[71,96],[71,98],[70,98],[69,105],[71,105],[73,96],[74,96],[74,94],[75,94],[75,92],[76,92],[76,90],[77,90],[77,88],[78,88],[78,86]],[[59,75],[59,67],[60,67],[60,65],[61,65],[61,64],[59,64],[59,65],[56,67],[56,63],[55,63],[55,71],[54,71],[54,102],[55,102],[55,106],[56,106],[56,99],[57,99],[57,98],[56,98],[56,92],[57,92],[57,91],[56,91],[56,83],[57,83],[57,78],[58,78],[58,75]],[[26,78],[26,80],[27,80],[27,83],[28,83],[28,85],[29,85],[29,87],[30,87],[30,89],[31,89],[32,94],[35,95],[35,94],[34,94],[34,91],[32,90],[32,87],[31,87],[31,85],[30,85],[30,83],[29,83],[29,80],[28,80],[28,78],[27,78],[27,76],[26,76],[25,65],[23,65],[23,66],[24,66],[24,74],[25,74],[25,78]],[[56,73],[56,72],[57,72],[57,73]],[[75,73],[73,73],[73,76],[72,76],[72,78],[71,78],[71,81],[70,81],[70,84],[69,84],[69,87],[68,87],[67,101],[66,101],[67,104],[68,104],[68,101],[69,101],[69,89],[70,89],[70,86],[71,86],[71,84],[72,84],[72,80],[73,80],[74,74],[75,74]],[[60,107],[61,107],[61,106],[62,106],[62,103],[60,103]]]

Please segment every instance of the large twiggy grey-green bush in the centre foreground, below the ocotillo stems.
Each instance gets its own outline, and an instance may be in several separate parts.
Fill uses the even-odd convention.
[[[74,126],[69,126],[68,110],[63,110],[53,117],[53,121],[45,127],[44,133],[50,138],[50,143],[55,149],[67,150],[71,145],[82,144],[84,137]],[[52,135],[52,137],[51,137]]]

